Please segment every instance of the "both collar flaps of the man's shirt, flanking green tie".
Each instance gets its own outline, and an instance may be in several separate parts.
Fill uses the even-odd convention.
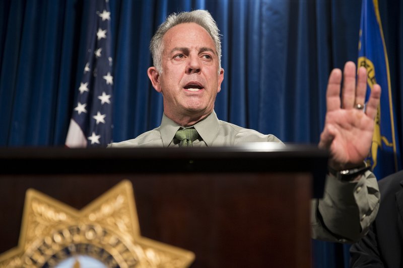
[[[193,125],[199,136],[206,142],[207,146],[213,145],[219,131],[219,126],[220,123],[214,110],[208,117]],[[164,147],[168,147],[171,144],[176,131],[180,127],[181,126],[169,119],[165,114],[162,115],[160,132]]]

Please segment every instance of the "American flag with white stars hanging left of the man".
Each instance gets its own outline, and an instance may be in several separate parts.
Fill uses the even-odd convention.
[[[108,0],[90,1],[85,67],[66,147],[106,146],[112,141],[112,56]]]

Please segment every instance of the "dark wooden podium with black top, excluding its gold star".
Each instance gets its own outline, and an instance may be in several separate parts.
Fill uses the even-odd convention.
[[[327,152],[311,146],[0,150],[0,253],[17,246],[33,188],[81,209],[133,185],[142,236],[194,252],[190,267],[310,267],[310,199]]]

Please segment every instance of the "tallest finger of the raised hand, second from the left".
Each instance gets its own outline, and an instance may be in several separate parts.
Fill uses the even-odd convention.
[[[343,72],[342,107],[352,109],[356,100],[356,64],[348,61]]]

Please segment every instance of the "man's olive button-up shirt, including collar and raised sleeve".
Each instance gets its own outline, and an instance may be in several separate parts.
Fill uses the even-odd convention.
[[[250,142],[283,144],[274,135],[221,121],[214,111],[192,127],[199,134],[192,143],[194,147],[236,146]],[[135,139],[111,143],[108,147],[179,147],[179,141],[174,138],[179,128],[164,114],[158,128]],[[327,175],[323,198],[312,199],[312,238],[334,242],[357,241],[367,233],[375,219],[379,198],[376,177],[370,171],[354,182],[341,182]]]

